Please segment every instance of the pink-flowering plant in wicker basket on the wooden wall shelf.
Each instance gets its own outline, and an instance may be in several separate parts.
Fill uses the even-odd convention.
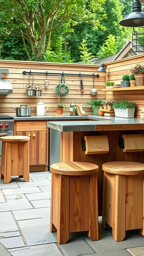
[[[136,85],[143,86],[144,83],[144,65],[136,64],[135,67],[130,69],[131,74],[135,75]]]

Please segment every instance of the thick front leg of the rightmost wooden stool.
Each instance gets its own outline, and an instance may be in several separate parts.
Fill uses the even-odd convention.
[[[122,241],[126,235],[126,176],[114,175],[113,184],[113,226],[112,236],[115,241]]]

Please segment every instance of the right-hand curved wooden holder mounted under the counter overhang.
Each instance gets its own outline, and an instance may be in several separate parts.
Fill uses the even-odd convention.
[[[144,135],[143,134],[123,134],[124,148],[123,152],[144,151]]]

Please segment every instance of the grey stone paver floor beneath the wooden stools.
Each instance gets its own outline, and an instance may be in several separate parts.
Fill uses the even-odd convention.
[[[125,239],[116,242],[110,227],[101,229],[101,217],[98,241],[76,232],[59,245],[56,233],[49,231],[50,190],[50,172],[31,172],[30,182],[18,177],[9,184],[0,180],[0,256],[144,256],[139,230],[126,231]]]

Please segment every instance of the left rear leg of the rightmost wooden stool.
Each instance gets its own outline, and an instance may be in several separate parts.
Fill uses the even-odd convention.
[[[104,172],[104,185],[103,185],[103,199],[102,199],[102,229],[107,229],[108,224],[106,223],[106,204],[107,203],[107,173]]]

